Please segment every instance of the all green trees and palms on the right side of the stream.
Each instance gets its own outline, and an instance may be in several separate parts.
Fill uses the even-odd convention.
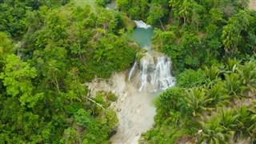
[[[118,10],[157,27],[152,47],[174,63],[177,86],[155,100],[147,142],[256,142],[256,13],[248,4],[118,0]]]

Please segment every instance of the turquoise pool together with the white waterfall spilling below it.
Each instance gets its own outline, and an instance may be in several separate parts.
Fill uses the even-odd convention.
[[[139,42],[143,49],[149,52],[141,58],[140,62],[135,62],[130,70],[128,80],[134,81],[138,90],[166,90],[175,85],[175,78],[171,75],[171,61],[165,54],[151,50],[151,38],[154,35],[152,26],[142,21],[134,21],[137,28],[130,38]],[[139,67],[138,70],[134,70]],[[134,74],[136,76],[132,77]],[[134,78],[134,79],[133,79]]]

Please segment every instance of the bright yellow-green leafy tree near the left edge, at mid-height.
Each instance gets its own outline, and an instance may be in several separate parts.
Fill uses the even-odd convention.
[[[3,79],[3,85],[6,86],[7,94],[12,97],[18,97],[21,105],[33,107],[42,98],[43,94],[33,94],[33,84],[31,78],[35,78],[36,70],[30,68],[26,62],[22,62],[14,54],[10,54],[6,58],[6,66],[4,73],[1,73],[0,78]]]

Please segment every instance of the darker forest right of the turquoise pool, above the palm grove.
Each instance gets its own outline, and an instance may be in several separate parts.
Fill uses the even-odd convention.
[[[255,11],[247,7],[247,0],[118,0],[118,10],[130,18],[162,29],[155,30],[153,47],[172,58],[176,74],[253,54]]]

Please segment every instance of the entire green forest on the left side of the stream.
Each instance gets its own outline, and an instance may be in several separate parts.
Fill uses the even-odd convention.
[[[113,134],[117,97],[90,97],[83,83],[126,70],[138,47],[121,14],[88,2],[0,1],[0,143],[107,143]]]

